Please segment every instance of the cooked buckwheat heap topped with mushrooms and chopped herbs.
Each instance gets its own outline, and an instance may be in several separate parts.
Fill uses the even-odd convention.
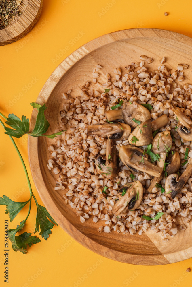
[[[192,85],[182,85],[186,64],[170,70],[164,57],[149,71],[153,59],[140,60],[102,84],[97,65],[77,98],[62,94],[67,131],[48,147],[47,167],[82,223],[131,235],[150,228],[166,242],[192,218]]]

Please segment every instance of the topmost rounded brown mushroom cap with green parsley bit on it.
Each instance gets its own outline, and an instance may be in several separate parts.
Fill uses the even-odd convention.
[[[130,104],[130,102],[126,102],[123,104],[122,108],[123,120],[126,124],[131,127],[136,127],[138,124],[135,123],[132,119],[136,119],[137,121],[145,122],[151,119],[151,113],[144,106],[137,104],[137,108],[135,108],[134,104]]]

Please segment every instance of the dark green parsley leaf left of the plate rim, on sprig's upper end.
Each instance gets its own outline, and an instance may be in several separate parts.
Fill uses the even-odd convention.
[[[5,123],[13,128],[5,127],[6,135],[20,138],[29,132],[29,119],[27,119],[26,116],[22,116],[20,120],[16,115],[9,114],[7,122]]]

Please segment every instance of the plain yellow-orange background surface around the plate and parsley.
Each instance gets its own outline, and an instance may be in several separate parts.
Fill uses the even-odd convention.
[[[29,103],[35,102],[45,81],[59,63],[81,45],[103,34],[147,27],[172,30],[192,37],[190,0],[113,0],[113,5],[111,2],[44,0],[35,28],[23,39],[0,47],[0,111],[6,116],[15,113],[18,117],[23,114],[30,117],[32,108]],[[112,7],[105,9],[108,4]],[[169,15],[165,17],[164,12],[169,12]],[[85,34],[78,40],[76,38],[72,45],[71,39],[77,37],[79,31]],[[69,46],[68,51],[63,50],[66,46]],[[57,56],[60,50],[63,52]],[[36,80],[31,84],[33,78]],[[24,170],[9,137],[3,132],[0,126],[0,196],[26,201],[29,191]],[[29,171],[27,137],[16,139],[16,143]],[[32,187],[39,204],[42,204],[33,183]],[[27,210],[24,208],[14,219],[10,225],[12,228],[25,218]],[[35,218],[33,203],[24,231],[35,229]],[[151,267],[119,263],[89,251],[57,226],[52,229],[47,241],[41,238],[41,243],[33,245],[26,255],[14,252],[9,244],[10,275],[7,285],[2,263],[5,219],[8,219],[5,207],[0,206],[0,286],[191,286],[192,272],[185,272],[188,267],[192,268],[191,259]],[[135,278],[129,283],[133,274]],[[78,281],[79,277],[83,282]]]

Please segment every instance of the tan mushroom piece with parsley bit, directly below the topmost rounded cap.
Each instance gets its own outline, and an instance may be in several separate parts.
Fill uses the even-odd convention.
[[[130,144],[134,144],[136,146],[147,146],[148,144],[151,144],[153,141],[151,121],[147,120],[138,125],[132,133],[130,133],[128,141]]]

